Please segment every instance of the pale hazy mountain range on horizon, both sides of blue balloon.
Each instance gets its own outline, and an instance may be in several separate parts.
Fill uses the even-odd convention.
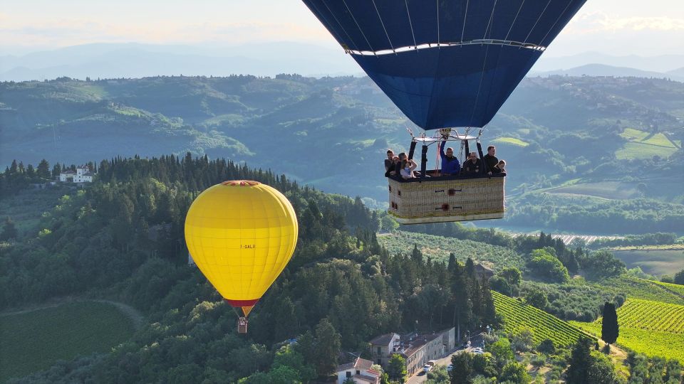
[[[67,76],[143,78],[156,75],[249,74],[274,76],[362,75],[341,48],[307,43],[274,42],[242,46],[162,46],[98,43],[21,56],[0,56],[0,81],[50,80]],[[591,75],[670,78],[684,81],[684,55],[651,57],[581,53],[542,56],[530,75]]]

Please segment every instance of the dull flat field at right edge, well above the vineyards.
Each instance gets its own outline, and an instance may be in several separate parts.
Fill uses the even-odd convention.
[[[684,250],[613,250],[613,255],[628,268],[641,267],[643,272],[660,276],[684,270]]]

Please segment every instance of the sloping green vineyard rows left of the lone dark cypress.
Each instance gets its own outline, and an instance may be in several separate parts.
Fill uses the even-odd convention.
[[[589,336],[566,321],[547,314],[534,306],[519,302],[517,299],[512,299],[495,291],[492,291],[492,297],[497,313],[504,317],[504,331],[508,333],[517,334],[523,329],[531,329],[535,343],[549,338],[554,341],[556,346],[570,346],[580,336]],[[594,337],[591,336],[591,338]]]

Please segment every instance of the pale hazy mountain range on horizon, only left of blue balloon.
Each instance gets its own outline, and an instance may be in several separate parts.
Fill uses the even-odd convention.
[[[274,76],[353,75],[362,71],[343,50],[302,43],[246,46],[155,46],[88,44],[22,56],[0,56],[0,80],[25,81],[63,76],[144,78],[156,75],[249,74]]]

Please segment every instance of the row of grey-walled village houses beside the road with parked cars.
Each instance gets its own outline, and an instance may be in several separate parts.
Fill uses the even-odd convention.
[[[431,334],[384,334],[370,342],[373,361],[386,367],[393,354],[405,358],[406,371],[413,375],[423,369],[425,363],[445,356],[456,345],[455,329],[445,329]]]

